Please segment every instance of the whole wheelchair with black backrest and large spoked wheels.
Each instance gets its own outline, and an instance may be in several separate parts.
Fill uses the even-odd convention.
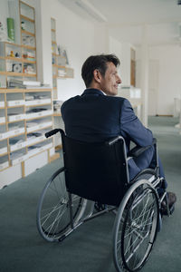
[[[156,168],[146,169],[129,181],[128,161],[150,146],[134,148],[127,154],[121,136],[106,142],[88,143],[60,132],[64,166],[46,183],[36,215],[40,235],[49,242],[62,242],[84,222],[113,211],[112,251],[117,271],[138,271],[148,260],[161,225],[161,203],[167,204],[167,191],[158,196],[163,178]],[[157,141],[153,142],[156,149]],[[95,206],[96,203],[96,206]],[[95,210],[96,207],[96,210]]]

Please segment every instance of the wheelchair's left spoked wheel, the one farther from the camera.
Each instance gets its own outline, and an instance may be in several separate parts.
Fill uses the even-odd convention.
[[[76,224],[86,209],[87,200],[71,195],[73,222]],[[46,183],[38,203],[37,228],[47,241],[59,239],[71,228],[69,196],[64,168],[57,170]]]

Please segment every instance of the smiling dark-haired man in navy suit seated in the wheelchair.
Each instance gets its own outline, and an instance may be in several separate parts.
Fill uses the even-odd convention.
[[[145,147],[152,144],[153,135],[138,120],[129,101],[116,97],[121,83],[117,66],[119,59],[114,54],[90,56],[82,65],[81,76],[86,90],[62,104],[62,119],[67,136],[79,141],[108,141],[121,135],[129,152],[130,141]],[[152,146],[136,159],[129,160],[129,179],[140,170],[154,167]],[[160,175],[164,177],[159,160]],[[165,180],[163,186],[167,188]],[[175,195],[173,201],[176,201]]]

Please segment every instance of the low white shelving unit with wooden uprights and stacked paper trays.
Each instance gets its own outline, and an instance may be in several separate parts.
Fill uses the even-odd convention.
[[[47,162],[56,159],[53,139],[44,136],[53,126],[52,89],[2,89],[0,98],[0,175],[19,165],[26,176],[26,161],[42,152]]]

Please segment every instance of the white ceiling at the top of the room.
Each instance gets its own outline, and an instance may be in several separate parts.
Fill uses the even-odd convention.
[[[141,44],[147,25],[148,44],[181,44],[181,5],[177,0],[59,0],[93,23],[106,24],[121,43]]]

